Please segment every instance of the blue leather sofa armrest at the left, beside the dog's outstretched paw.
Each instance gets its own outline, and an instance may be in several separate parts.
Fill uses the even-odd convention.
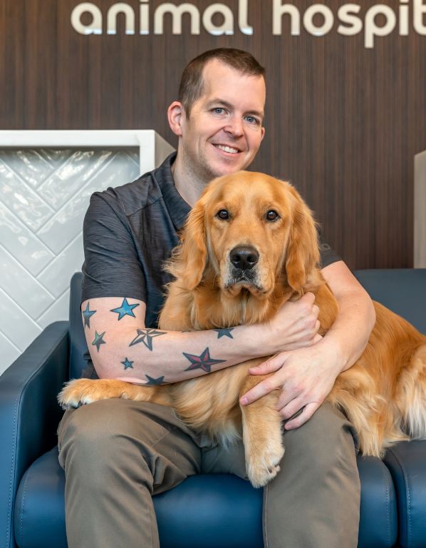
[[[56,445],[68,380],[68,322],[49,325],[0,377],[0,547],[14,547],[12,516],[25,470]],[[6,544],[4,540],[6,535]]]

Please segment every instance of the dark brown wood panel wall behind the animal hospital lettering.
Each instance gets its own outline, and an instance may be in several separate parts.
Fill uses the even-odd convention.
[[[1,0],[0,128],[155,128],[175,138],[165,112],[187,61],[206,49],[251,51],[266,67],[266,137],[253,168],[289,178],[351,268],[405,268],[413,260],[414,155],[426,149],[426,36],[272,34],[272,1],[249,0],[246,36],[78,34],[78,0]],[[127,2],[137,12],[139,2]],[[176,0],[175,4],[181,2]],[[202,12],[212,1],[193,2]],[[303,12],[314,1],[291,2]],[[326,2],[333,14],[344,2]],[[373,4],[358,0],[360,16]],[[398,2],[385,0],[398,14]],[[151,14],[161,1],[149,2]],[[238,1],[224,4],[237,14]],[[410,1],[410,4],[412,2]],[[410,5],[411,8],[411,5]],[[424,18],[426,19],[426,17]],[[220,18],[217,19],[219,24]],[[380,21],[379,21],[380,22]],[[321,19],[318,19],[318,24]],[[124,181],[123,181],[124,182]],[[1,181],[0,181],[1,184]]]

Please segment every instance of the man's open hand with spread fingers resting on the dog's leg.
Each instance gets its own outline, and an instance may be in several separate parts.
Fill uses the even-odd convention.
[[[281,352],[257,367],[251,367],[251,375],[274,374],[246,392],[240,399],[241,405],[248,405],[279,388],[277,410],[283,419],[289,420],[301,411],[286,423],[286,430],[298,428],[310,419],[341,372],[341,360],[333,345],[319,335],[316,340],[314,345]]]

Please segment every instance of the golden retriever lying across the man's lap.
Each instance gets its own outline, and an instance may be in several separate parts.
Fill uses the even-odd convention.
[[[336,299],[318,269],[316,224],[296,190],[261,173],[240,172],[207,186],[189,213],[167,265],[175,280],[160,315],[164,330],[232,328],[269,320],[286,300],[316,295],[321,335]],[[328,400],[353,423],[364,455],[381,456],[399,440],[426,435],[426,337],[375,303],[377,321],[358,362],[338,376]],[[284,455],[279,390],[240,408],[239,397],[264,377],[250,360],[172,385],[73,380],[64,408],[109,397],[157,402],[222,443],[241,437],[254,487],[271,480]]]

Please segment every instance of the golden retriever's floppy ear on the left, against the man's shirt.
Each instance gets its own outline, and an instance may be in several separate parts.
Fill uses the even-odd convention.
[[[166,266],[168,272],[179,278],[182,288],[189,291],[199,285],[207,262],[204,210],[204,200],[201,198],[189,212],[180,245]]]

